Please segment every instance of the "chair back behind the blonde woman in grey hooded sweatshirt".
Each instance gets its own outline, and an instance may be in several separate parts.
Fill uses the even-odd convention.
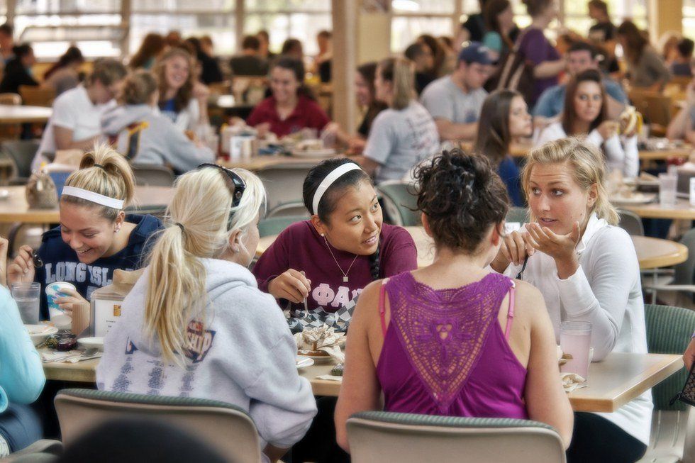
[[[106,420],[150,418],[166,421],[198,437],[230,462],[261,461],[260,437],[253,420],[230,403],[205,398],[63,389],[55,396],[55,411],[66,446]]]

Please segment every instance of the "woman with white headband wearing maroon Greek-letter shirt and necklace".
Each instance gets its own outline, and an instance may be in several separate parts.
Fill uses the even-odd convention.
[[[383,223],[369,176],[347,159],[327,160],[304,179],[308,221],[283,230],[253,267],[280,306],[335,312],[375,279],[417,268],[406,230]]]

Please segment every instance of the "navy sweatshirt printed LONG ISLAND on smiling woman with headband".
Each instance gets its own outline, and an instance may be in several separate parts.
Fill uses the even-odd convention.
[[[36,269],[35,281],[41,284],[41,316],[48,320],[48,303],[45,287],[56,281],[74,284],[77,292],[84,299],[91,298],[91,293],[101,286],[111,284],[113,270],[136,270],[143,267],[150,245],[148,238],[162,228],[159,219],[153,216],[128,215],[126,222],[135,223],[130,232],[128,245],[110,257],[101,257],[91,264],[83,264],[77,259],[77,253],[62,240],[60,226],[43,234],[43,242],[38,255],[43,260],[43,267]]]

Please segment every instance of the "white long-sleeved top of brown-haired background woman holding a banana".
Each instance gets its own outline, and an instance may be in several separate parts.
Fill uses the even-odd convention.
[[[567,137],[565,129],[562,128],[562,123],[555,122],[548,125],[546,128],[536,133],[534,140],[535,146],[543,145],[550,141],[558,140]],[[637,177],[640,173],[640,153],[637,149],[637,136],[620,137],[614,134],[608,140],[601,137],[599,130],[591,130],[589,135],[586,135],[586,141],[601,147],[604,144],[604,153],[606,155],[606,165],[608,172],[619,169],[623,172],[624,177]]]

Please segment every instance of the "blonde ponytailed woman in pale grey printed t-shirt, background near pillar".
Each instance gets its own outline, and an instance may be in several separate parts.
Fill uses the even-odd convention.
[[[439,150],[437,125],[415,99],[415,72],[410,61],[389,58],[380,62],[374,91],[377,100],[389,108],[374,118],[360,163],[376,183],[400,180]]]

